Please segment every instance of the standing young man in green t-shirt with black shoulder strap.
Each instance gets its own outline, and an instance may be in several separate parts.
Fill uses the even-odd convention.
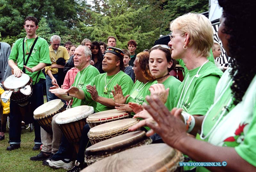
[[[20,107],[12,99],[10,101],[10,146],[7,150],[20,148],[21,134],[21,109],[29,117],[29,123],[33,121],[33,111],[44,104],[43,84],[45,76],[41,69],[51,65],[49,48],[45,39],[36,36],[38,21],[35,17],[27,17],[24,22],[24,29],[27,32],[25,38],[18,39],[9,56],[8,64],[13,69],[14,76],[20,77],[21,73],[28,74],[33,80],[33,94],[31,104]],[[34,45],[34,46],[33,46]],[[24,60],[24,61],[23,61]],[[17,65],[15,62],[17,61]],[[26,121],[25,121],[26,122]],[[35,128],[35,146],[33,150],[39,150],[41,142],[40,125],[34,121]]]

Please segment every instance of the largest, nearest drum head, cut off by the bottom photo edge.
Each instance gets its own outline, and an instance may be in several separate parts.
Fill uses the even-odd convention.
[[[84,168],[82,172],[174,171],[183,155],[165,143],[134,147],[111,155]],[[164,168],[166,170],[164,170]],[[159,170],[160,171],[160,170]]]

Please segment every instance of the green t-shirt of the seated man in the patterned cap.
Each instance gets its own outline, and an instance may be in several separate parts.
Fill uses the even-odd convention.
[[[107,73],[97,75],[93,78],[92,82],[89,83],[89,85],[96,86],[96,90],[98,91],[98,95],[100,97],[112,98],[112,99],[114,99],[112,90],[114,90],[114,86],[116,86],[116,84],[121,86],[124,96],[130,93],[133,86],[131,77],[125,74],[123,71],[120,71],[118,74],[111,75],[111,76],[107,76]],[[85,100],[92,101],[91,94],[87,91],[85,86],[86,85],[84,85],[84,87],[82,88],[82,90],[84,91]],[[97,102],[96,109],[94,109],[94,111],[100,112],[100,111],[107,111],[110,109],[114,109],[114,107],[113,108],[107,107]]]

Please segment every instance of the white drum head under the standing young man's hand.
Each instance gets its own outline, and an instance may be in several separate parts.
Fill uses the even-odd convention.
[[[27,85],[27,83],[30,80],[30,76],[27,74],[21,73],[21,76],[15,77],[14,75],[9,76],[4,81],[4,87],[6,90],[14,90],[14,89],[20,89]]]

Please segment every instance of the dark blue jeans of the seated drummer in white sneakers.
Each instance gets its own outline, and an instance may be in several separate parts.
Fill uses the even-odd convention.
[[[84,164],[84,151],[87,147],[92,146],[90,139],[88,138],[87,133],[90,131],[88,124],[84,125],[82,137],[79,142],[79,151],[76,157],[76,160]],[[52,159],[61,160],[61,159],[72,159],[72,155],[75,152],[75,149],[72,144],[68,143],[68,140],[64,135],[61,138],[61,144],[58,152],[56,152]]]

